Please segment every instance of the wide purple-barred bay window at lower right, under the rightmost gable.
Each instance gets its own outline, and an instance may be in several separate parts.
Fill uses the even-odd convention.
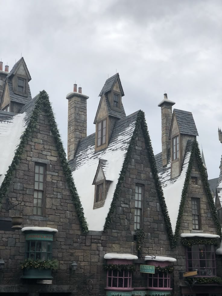
[[[193,245],[186,251],[187,270],[197,270],[198,276],[215,276],[215,250],[213,245]]]

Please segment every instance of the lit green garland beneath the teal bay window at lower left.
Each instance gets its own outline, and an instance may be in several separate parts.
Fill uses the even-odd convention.
[[[22,269],[51,269],[56,270],[59,268],[58,260],[32,260],[26,259],[23,263],[21,263]]]

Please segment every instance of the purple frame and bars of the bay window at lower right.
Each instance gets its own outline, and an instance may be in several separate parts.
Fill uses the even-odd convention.
[[[192,248],[194,248],[195,246],[198,246],[198,249],[204,249],[205,250],[198,250],[198,251],[194,251],[192,250]],[[204,248],[202,248],[204,246]],[[207,247],[210,247],[211,248],[211,251],[207,251],[206,248]],[[191,249],[191,251],[189,250]],[[205,259],[201,259],[200,256],[200,253],[203,252],[202,254],[205,255]],[[198,258],[195,258],[194,256],[194,253],[199,253],[199,256]],[[211,259],[206,259],[206,253],[210,253],[211,254]],[[189,254],[191,254],[191,259],[189,259]],[[208,254],[209,255],[209,254]],[[199,262],[198,266],[194,266],[194,263],[193,262]],[[201,264],[200,263],[204,263],[205,261],[205,265],[207,265],[207,261],[211,261],[211,267],[200,267]],[[189,267],[189,262],[192,262],[192,266]],[[214,265],[214,267],[213,267]],[[205,274],[201,274],[201,270],[205,271],[206,270],[206,273],[207,273],[207,269],[208,270],[211,270],[211,275],[205,275]],[[186,247],[186,270],[187,271],[193,271],[193,270],[197,270],[198,272],[198,275],[196,275],[197,277],[214,277],[216,276],[216,258],[215,258],[215,247],[214,245],[201,245],[201,244],[198,244],[198,245],[192,245],[190,247]],[[214,272],[213,272],[214,271]]]

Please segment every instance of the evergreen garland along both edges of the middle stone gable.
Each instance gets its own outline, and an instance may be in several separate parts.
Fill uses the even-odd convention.
[[[156,165],[156,161],[155,161],[155,158],[154,158],[154,152],[153,152],[153,148],[152,148],[152,145],[151,145],[151,139],[150,139],[148,128],[147,128],[145,115],[144,115],[144,112],[141,111],[141,110],[138,111],[138,114],[137,114],[135,129],[134,129],[130,144],[128,146],[128,150],[126,152],[125,160],[124,160],[123,165],[122,165],[122,170],[120,172],[119,180],[118,180],[118,183],[116,185],[116,189],[115,189],[115,192],[114,192],[114,195],[113,195],[113,200],[111,202],[109,212],[108,212],[108,215],[106,217],[106,221],[105,221],[105,224],[104,224],[103,231],[106,232],[109,229],[109,225],[111,223],[113,213],[114,213],[114,211],[116,209],[116,201],[118,200],[118,197],[119,197],[119,194],[120,194],[121,184],[122,184],[122,182],[124,180],[126,169],[127,169],[128,164],[130,162],[130,159],[132,157],[132,151],[134,149],[135,141],[136,141],[136,138],[138,136],[138,131],[139,131],[140,126],[141,126],[141,130],[142,130],[142,132],[144,134],[145,144],[146,144],[146,147],[147,147],[147,150],[148,150],[148,159],[150,161],[152,174],[154,176],[154,182],[155,182],[155,185],[156,185],[157,195],[159,197],[160,206],[161,206],[164,221],[165,221],[166,231],[167,231],[170,243],[172,245],[173,244],[173,231],[172,231],[172,227],[171,227],[171,223],[170,223],[170,217],[169,217],[168,210],[167,210],[167,207],[166,207],[166,202],[165,202],[165,199],[164,199],[164,196],[163,196],[163,189],[161,187],[161,183],[160,183],[160,180],[159,180],[159,177],[158,177],[157,165]]]

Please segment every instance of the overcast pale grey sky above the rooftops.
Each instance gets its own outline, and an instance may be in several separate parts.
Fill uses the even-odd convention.
[[[22,56],[34,97],[45,89],[67,146],[66,94],[81,84],[87,134],[108,75],[119,72],[127,115],[146,114],[154,153],[161,150],[158,103],[166,91],[191,111],[209,178],[219,176],[222,127],[221,0],[0,1],[0,58],[9,69]]]

